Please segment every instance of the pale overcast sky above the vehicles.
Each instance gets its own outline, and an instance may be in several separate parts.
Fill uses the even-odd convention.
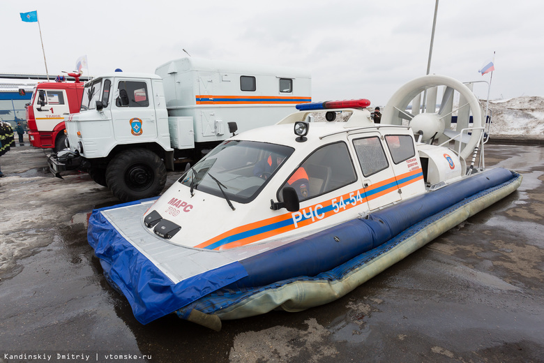
[[[0,73],[154,73],[186,56],[305,68],[312,99],[385,105],[425,75],[435,0],[14,1],[0,4]],[[491,97],[544,96],[544,1],[441,0],[430,73],[461,81],[495,56]],[[85,73],[86,75],[86,73]],[[480,97],[487,89],[476,88]]]

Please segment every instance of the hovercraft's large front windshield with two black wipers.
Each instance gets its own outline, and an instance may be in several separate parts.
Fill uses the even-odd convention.
[[[266,142],[227,140],[188,170],[178,182],[227,200],[255,199],[292,153],[292,147]],[[221,191],[222,189],[222,191]]]

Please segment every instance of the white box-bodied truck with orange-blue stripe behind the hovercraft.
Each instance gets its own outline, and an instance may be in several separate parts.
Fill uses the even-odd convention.
[[[156,74],[114,72],[84,86],[51,171],[88,171],[122,201],[160,194],[175,160],[197,161],[237,130],[275,124],[311,101],[308,71],[183,58]]]

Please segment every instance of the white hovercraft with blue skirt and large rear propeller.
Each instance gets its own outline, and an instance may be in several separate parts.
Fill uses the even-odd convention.
[[[439,110],[407,112],[432,87],[444,87]],[[456,131],[454,92],[471,120]],[[461,82],[405,84],[380,124],[369,105],[297,105],[222,142],[160,198],[93,211],[89,244],[135,318],[176,313],[218,330],[326,304],[520,186],[515,171],[485,170],[488,123]]]

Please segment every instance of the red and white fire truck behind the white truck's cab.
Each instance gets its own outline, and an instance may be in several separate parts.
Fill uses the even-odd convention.
[[[68,75],[75,82],[66,82],[66,77],[58,76],[55,82],[38,83],[33,90],[27,106],[27,127],[33,147],[55,152],[67,147],[64,117],[80,112],[84,84],[80,82],[80,73]]]

